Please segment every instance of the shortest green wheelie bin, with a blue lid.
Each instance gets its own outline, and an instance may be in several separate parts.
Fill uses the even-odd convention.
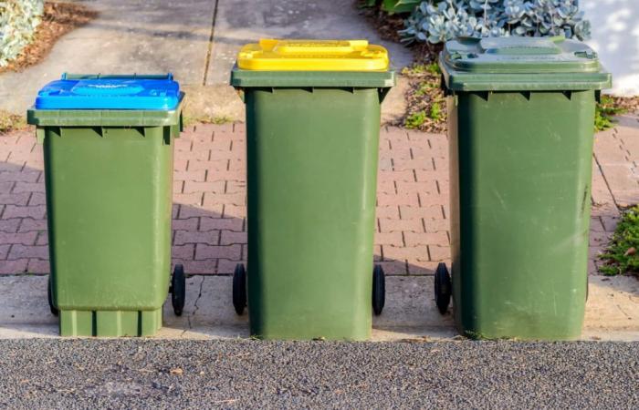
[[[63,75],[27,111],[44,148],[48,295],[61,335],[152,335],[170,290],[182,313],[183,267],[170,276],[183,95],[170,74]]]

